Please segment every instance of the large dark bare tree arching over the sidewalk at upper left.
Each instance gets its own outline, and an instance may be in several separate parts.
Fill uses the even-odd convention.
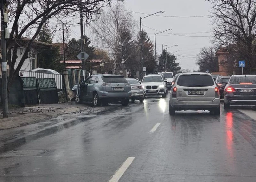
[[[12,49],[12,59],[8,59],[7,63],[10,68],[8,79],[8,87],[12,84],[16,76],[18,76],[21,66],[23,65],[30,46],[38,36],[42,26],[48,20],[52,21],[52,25],[66,23],[69,17],[79,17],[82,11],[86,23],[89,23],[93,14],[98,14],[99,9],[108,4],[111,0],[9,0],[8,8],[10,10],[10,22],[12,30],[10,38],[7,40],[8,53],[10,55]],[[13,43],[15,42],[15,43]],[[23,56],[15,69],[18,47],[25,47]]]

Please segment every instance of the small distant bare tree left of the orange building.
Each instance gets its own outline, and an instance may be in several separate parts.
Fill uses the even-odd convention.
[[[197,55],[196,64],[199,66],[199,70],[205,72],[218,71],[218,58],[215,55],[216,49],[213,47],[204,47]]]

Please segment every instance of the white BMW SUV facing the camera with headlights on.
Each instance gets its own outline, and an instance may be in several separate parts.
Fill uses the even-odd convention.
[[[164,80],[162,75],[152,74],[144,76],[141,85],[143,86],[146,96],[162,95],[163,97],[166,97],[168,93],[166,83],[167,80]]]

